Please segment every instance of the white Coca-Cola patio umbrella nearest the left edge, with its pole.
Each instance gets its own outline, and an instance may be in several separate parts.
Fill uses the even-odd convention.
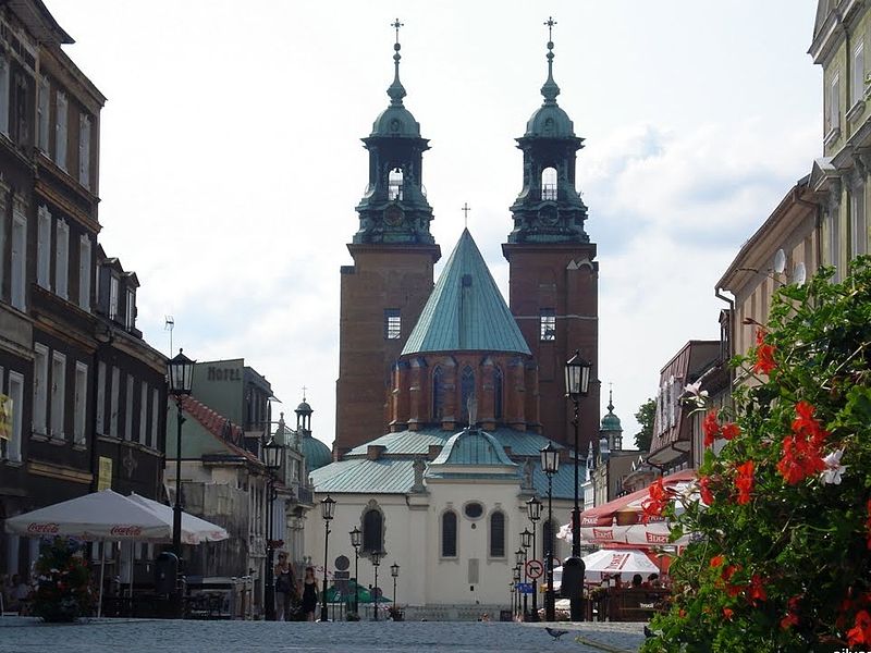
[[[69,537],[86,542],[137,540],[167,542],[172,525],[154,512],[111,490],[62,501],[45,508],[9,517],[8,533],[28,537]],[[97,616],[102,614],[102,583],[106,560],[100,556],[100,596]]]

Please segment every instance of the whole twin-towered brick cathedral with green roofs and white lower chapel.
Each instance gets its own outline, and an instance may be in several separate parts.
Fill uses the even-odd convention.
[[[437,615],[507,606],[522,531],[536,534],[528,558],[569,553],[554,533],[575,493],[564,365],[576,352],[592,364],[578,451],[599,433],[598,262],[575,184],[582,138],[556,101],[549,39],[543,101],[516,139],[523,188],[502,244],[508,301],[468,229],[433,284],[441,249],[424,187],[429,141],[404,103],[394,27],[390,103],[363,139],[368,185],[347,246],[353,263],[341,268],[333,461],[310,477],[316,504],[336,502],[326,566],[332,574],[335,558],[354,559],[346,533],[358,529],[360,584],[372,584],[373,562],[384,571],[395,563],[404,605]],[[539,463],[549,443],[561,458],[551,478]],[[533,497],[544,506],[536,521]],[[309,519],[305,550],[320,566],[326,525],[317,510]]]

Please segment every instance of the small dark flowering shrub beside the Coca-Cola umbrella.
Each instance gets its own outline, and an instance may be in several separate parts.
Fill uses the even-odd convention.
[[[44,621],[74,621],[90,613],[90,570],[74,540],[54,538],[36,562],[33,613]]]

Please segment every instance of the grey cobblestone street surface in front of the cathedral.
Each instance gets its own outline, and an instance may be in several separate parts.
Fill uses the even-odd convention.
[[[559,624],[559,640],[544,624],[514,623],[263,623],[91,619],[46,625],[34,618],[0,619],[0,653],[161,653],[184,651],[318,653],[471,653],[498,651],[596,653],[637,651],[640,624]],[[581,641],[576,638],[580,637]]]

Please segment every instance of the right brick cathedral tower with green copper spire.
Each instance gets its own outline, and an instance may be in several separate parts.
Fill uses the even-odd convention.
[[[555,22],[545,25],[551,34]],[[565,398],[563,366],[575,350],[592,362],[589,396],[581,399],[579,449],[599,428],[598,275],[596,245],[584,230],[587,207],[575,186],[582,138],[556,103],[553,41],[548,40],[544,101],[517,139],[524,155],[523,189],[511,207],[514,229],[502,251],[508,261],[510,304],[539,366],[543,434],[573,444],[573,410]]]

